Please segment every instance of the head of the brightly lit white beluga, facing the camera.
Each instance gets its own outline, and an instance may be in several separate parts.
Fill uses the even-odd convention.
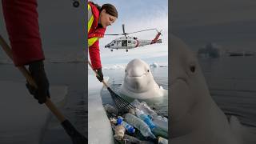
[[[155,84],[150,66],[141,59],[130,61],[125,70],[123,85],[126,89],[137,93],[143,93],[150,89],[150,85]]]

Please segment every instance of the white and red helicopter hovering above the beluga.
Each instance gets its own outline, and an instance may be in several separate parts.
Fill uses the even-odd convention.
[[[130,37],[127,36],[128,34],[134,34],[134,33],[140,33],[147,30],[156,30],[158,34],[155,36],[152,40],[142,40],[138,39],[136,37]],[[125,31],[125,25],[122,24],[122,34],[105,34],[105,35],[124,35],[123,37],[116,38],[109,44],[105,46],[105,48],[110,49],[110,51],[113,52],[114,49],[126,49],[126,52],[128,52],[128,49],[132,49],[139,46],[146,46],[146,45],[152,45],[154,43],[162,43],[162,39],[158,39],[160,37],[161,31],[158,31],[157,29],[147,29],[147,30],[139,30],[132,33],[126,33]]]

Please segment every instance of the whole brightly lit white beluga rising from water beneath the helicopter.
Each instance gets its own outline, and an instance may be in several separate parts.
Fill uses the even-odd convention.
[[[154,81],[150,66],[141,59],[131,60],[125,69],[120,93],[130,98],[150,99],[168,95],[168,90]]]

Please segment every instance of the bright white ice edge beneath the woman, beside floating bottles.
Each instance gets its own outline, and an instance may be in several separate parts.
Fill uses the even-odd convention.
[[[108,78],[104,78],[108,79]],[[102,106],[102,83],[94,75],[88,75],[88,142],[89,144],[113,144],[110,121]]]

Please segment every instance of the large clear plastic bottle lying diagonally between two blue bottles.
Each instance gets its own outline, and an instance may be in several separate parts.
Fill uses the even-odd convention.
[[[134,127],[136,127],[144,137],[150,137],[150,138],[156,138],[154,134],[152,134],[150,127],[147,126],[145,122],[143,122],[141,119],[137,118],[133,114],[126,114],[126,122],[130,123]]]

